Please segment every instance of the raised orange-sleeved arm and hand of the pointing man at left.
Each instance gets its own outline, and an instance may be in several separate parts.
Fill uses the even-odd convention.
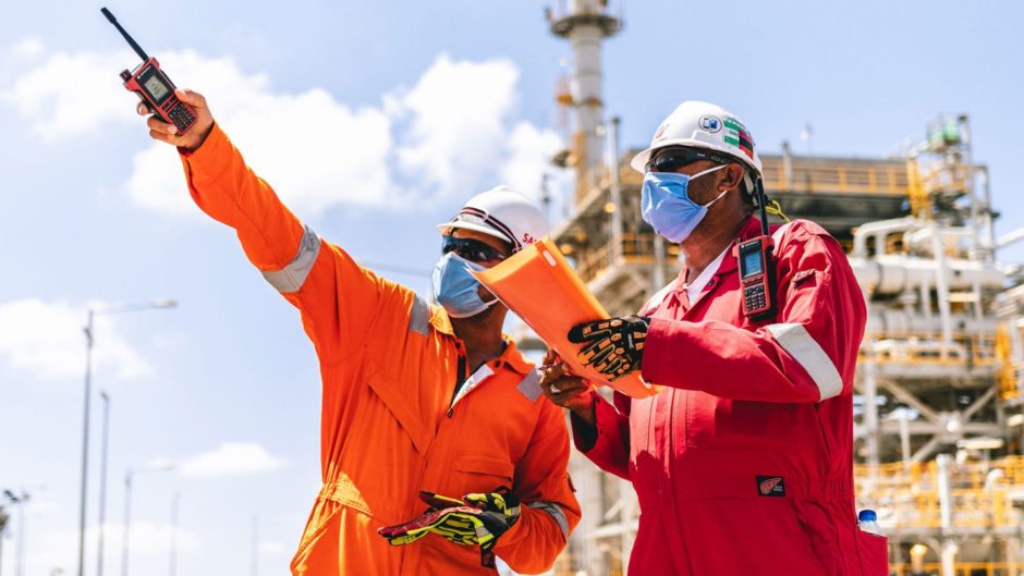
[[[236,231],[249,261],[300,309],[321,358],[344,354],[346,340],[357,343],[381,301],[407,308],[405,289],[361,268],[281,203],[270,185],[245,164],[202,95],[175,94],[195,108],[196,124],[180,135],[172,124],[150,117],[150,136],[178,147],[196,205]],[[339,290],[344,292],[341,297]]]

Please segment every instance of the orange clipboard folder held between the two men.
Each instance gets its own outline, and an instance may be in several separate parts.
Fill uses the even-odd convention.
[[[635,399],[660,391],[644,382],[639,372],[611,382],[576,360],[578,345],[565,338],[569,330],[581,322],[608,318],[608,312],[547,236],[473,275],[554,350],[574,373]]]

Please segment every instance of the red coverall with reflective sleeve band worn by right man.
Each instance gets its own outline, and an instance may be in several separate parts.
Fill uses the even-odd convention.
[[[737,240],[759,234],[751,218]],[[650,316],[643,376],[655,396],[596,401],[576,446],[633,482],[630,574],[888,575],[886,539],[857,529],[852,389],[864,296],[815,223],[773,233],[778,315],[751,322],[731,248],[699,298],[680,275]]]

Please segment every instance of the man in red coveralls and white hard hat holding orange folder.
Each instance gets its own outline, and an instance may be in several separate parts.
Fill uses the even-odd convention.
[[[569,338],[584,364],[610,378],[641,370],[665,390],[610,403],[557,358],[543,380],[570,408],[576,448],[636,489],[630,574],[888,574],[886,539],[862,532],[854,508],[865,305],[839,243],[808,221],[775,228],[776,311],[752,318],[734,246],[763,235],[753,212],[765,198],[743,123],[683,102],[632,166],[644,220],[679,243],[683,270],[638,315]]]

